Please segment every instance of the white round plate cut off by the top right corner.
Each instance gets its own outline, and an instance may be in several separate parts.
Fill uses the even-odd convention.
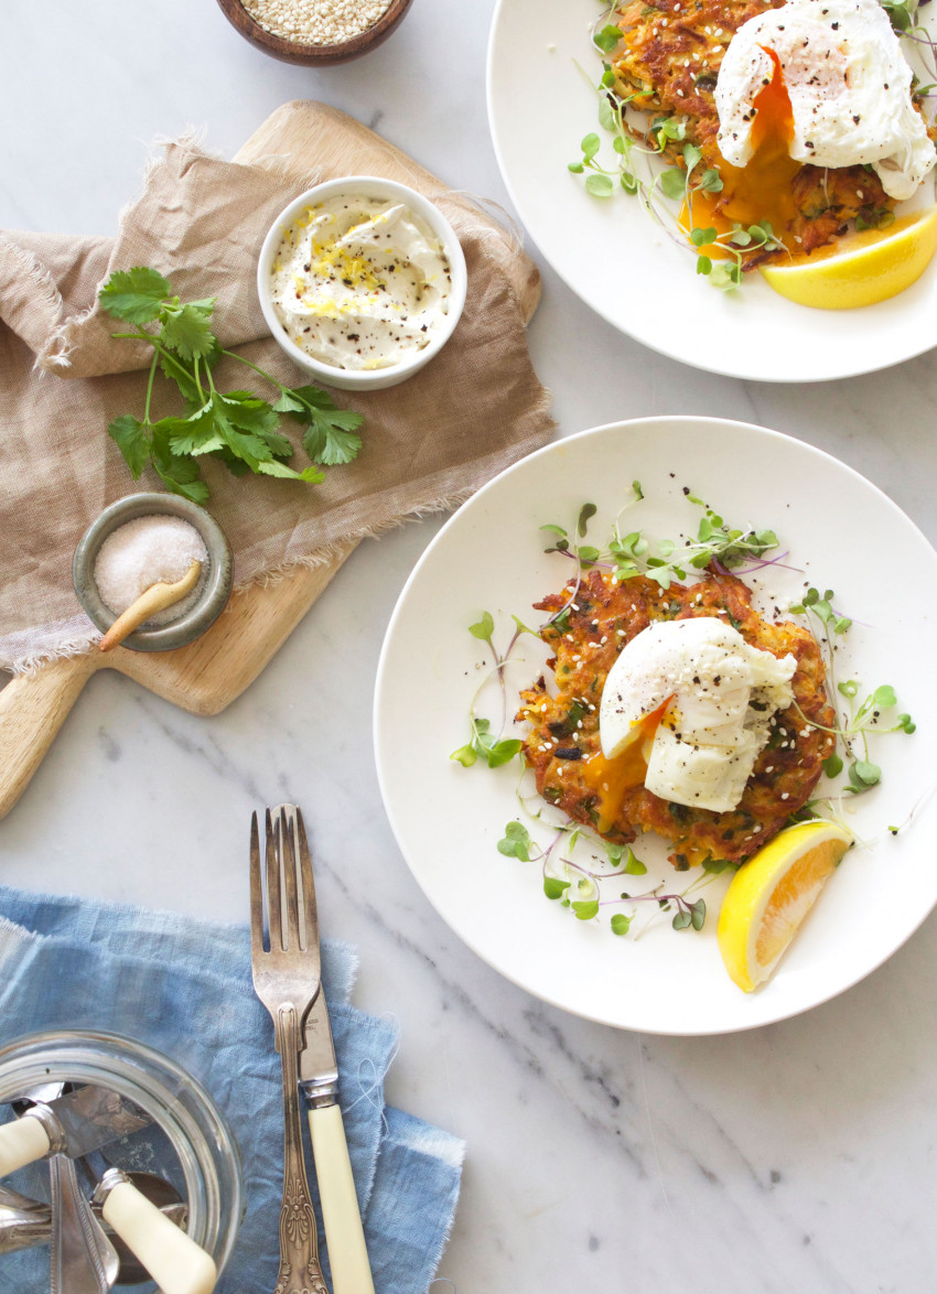
[[[591,88],[602,74],[590,40],[598,14],[595,0],[500,0],[488,49],[488,118],[511,201],[588,305],[670,358],[761,382],[872,373],[937,344],[937,259],[889,302],[817,311],[757,273],[739,291],[711,287],[637,198],[586,193],[568,171],[580,140],[597,132],[603,164],[615,158]],[[923,189],[918,201],[932,202],[931,182]]]

